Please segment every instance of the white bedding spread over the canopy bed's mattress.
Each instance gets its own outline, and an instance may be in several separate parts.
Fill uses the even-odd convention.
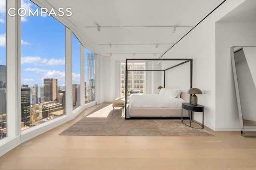
[[[131,94],[130,105],[132,107],[172,107],[181,108],[181,104],[186,102],[182,98],[170,98],[161,94]]]

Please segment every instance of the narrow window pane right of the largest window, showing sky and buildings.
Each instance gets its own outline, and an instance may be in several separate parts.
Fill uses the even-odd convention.
[[[73,109],[80,106],[80,41],[72,33],[72,103]]]

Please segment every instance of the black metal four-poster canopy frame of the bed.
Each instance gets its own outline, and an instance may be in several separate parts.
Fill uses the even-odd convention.
[[[182,63],[176,64],[170,68],[167,68],[165,70],[128,70],[127,69],[127,62],[131,61],[183,61]],[[193,68],[193,59],[126,59],[125,62],[125,68],[126,68],[126,74],[125,74],[125,119],[180,119],[181,117],[130,117],[130,114],[127,115],[127,97],[128,97],[128,71],[164,71],[164,87],[165,87],[165,78],[166,78],[166,70],[170,70],[176,66],[180,66],[182,64],[190,62],[190,88],[192,88],[192,68]],[[190,100],[191,100],[191,94],[190,94]],[[191,101],[190,101],[191,102]],[[189,117],[184,117],[185,119],[189,119]]]

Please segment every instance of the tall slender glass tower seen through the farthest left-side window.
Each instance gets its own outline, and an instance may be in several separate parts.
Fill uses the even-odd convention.
[[[87,60],[86,60],[86,96],[88,101],[86,102],[93,102],[95,101],[95,54],[94,53],[87,53]]]

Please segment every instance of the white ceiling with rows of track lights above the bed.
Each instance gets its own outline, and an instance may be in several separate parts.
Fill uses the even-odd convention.
[[[72,8],[72,16],[59,20],[80,37],[81,43],[94,53],[123,60],[158,59],[223,1],[40,0],[35,3],[47,8]]]

